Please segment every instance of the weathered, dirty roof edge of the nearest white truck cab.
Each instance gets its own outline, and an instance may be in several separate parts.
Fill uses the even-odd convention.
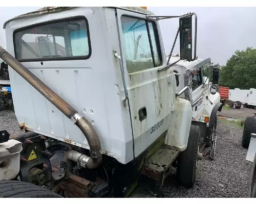
[[[45,14],[49,14],[49,13],[56,13],[56,12],[61,12],[61,11],[65,11],[65,10],[69,10],[69,9],[74,9],[77,7],[42,7],[36,11],[32,11],[29,13],[25,13],[22,15],[18,15],[14,18],[11,18],[9,20],[7,20],[4,23],[3,28],[5,29],[6,24],[14,19],[17,18],[23,18],[23,17],[28,17],[28,16],[38,16],[38,15],[45,15]],[[118,8],[118,9],[123,9],[123,10],[127,10],[127,11],[133,11],[136,13],[142,13],[142,14],[147,14],[147,15],[155,15],[152,11],[149,11],[147,9],[143,9],[141,7],[112,7],[112,8]]]

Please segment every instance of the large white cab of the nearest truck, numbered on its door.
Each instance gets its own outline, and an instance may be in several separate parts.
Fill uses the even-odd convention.
[[[168,129],[175,120],[171,109],[177,107],[173,70],[158,72],[166,65],[159,25],[145,14],[80,7],[44,17],[17,17],[5,24],[9,53],[87,117],[100,137],[102,153],[123,164]],[[33,25],[24,18],[33,18]],[[114,52],[121,58],[121,69]],[[89,148],[72,121],[18,73],[9,72],[15,79],[11,87],[20,126]],[[189,126],[184,136],[177,136],[188,138]],[[186,142],[176,146],[185,148]]]

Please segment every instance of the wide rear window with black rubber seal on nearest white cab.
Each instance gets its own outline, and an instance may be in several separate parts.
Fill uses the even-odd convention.
[[[86,19],[37,25],[15,32],[17,60],[89,57],[91,52]]]

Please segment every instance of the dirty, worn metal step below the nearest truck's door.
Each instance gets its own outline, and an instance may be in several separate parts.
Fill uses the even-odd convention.
[[[144,162],[139,186],[158,195],[161,192],[163,181],[169,173],[170,166],[178,157],[179,152],[177,147],[162,145]]]

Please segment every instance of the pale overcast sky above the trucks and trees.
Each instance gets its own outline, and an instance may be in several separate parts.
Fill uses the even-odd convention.
[[[6,46],[3,24],[6,20],[40,7],[0,7],[0,45]],[[147,7],[156,15],[182,15],[196,12],[198,16],[197,56],[211,58],[214,63],[225,65],[239,49],[256,48],[256,7]],[[160,20],[165,53],[172,48],[178,29],[178,18]],[[6,47],[5,47],[6,48]],[[174,54],[179,53],[179,45]]]

